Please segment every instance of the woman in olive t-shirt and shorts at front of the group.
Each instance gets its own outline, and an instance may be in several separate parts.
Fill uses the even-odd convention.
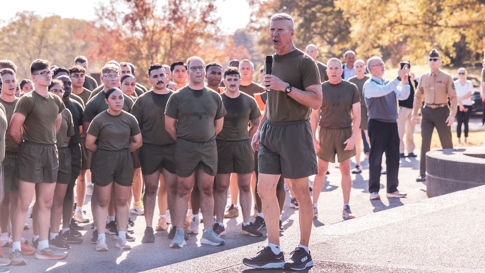
[[[105,228],[112,188],[118,225],[116,247],[126,250],[131,248],[126,243],[128,195],[133,182],[133,159],[129,152],[142,146],[142,134],[136,118],[122,110],[124,98],[120,89],[109,89],[105,101],[108,110],[93,119],[86,134],[86,148],[93,152],[91,173],[95,202],[92,210],[98,233],[96,250],[108,250]],[[129,143],[130,136],[132,143]]]

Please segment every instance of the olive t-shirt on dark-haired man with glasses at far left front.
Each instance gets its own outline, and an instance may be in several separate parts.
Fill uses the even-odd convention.
[[[14,112],[25,116],[22,137],[37,144],[56,144],[56,118],[65,109],[57,95],[47,93],[47,97],[32,91],[22,96]]]

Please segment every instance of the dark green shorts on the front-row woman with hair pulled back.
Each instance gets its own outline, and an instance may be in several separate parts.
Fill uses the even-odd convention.
[[[97,150],[91,164],[91,179],[97,186],[108,186],[114,181],[130,187],[133,184],[133,158],[128,149]]]

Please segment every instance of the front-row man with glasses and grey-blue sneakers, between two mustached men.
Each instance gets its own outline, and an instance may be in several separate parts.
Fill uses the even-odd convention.
[[[205,67],[202,58],[190,57],[187,66],[189,84],[170,96],[165,110],[165,129],[176,140],[178,180],[175,201],[175,224],[178,228],[170,247],[181,248],[185,245],[184,231],[180,228],[187,213],[194,179],[197,179],[200,191],[200,209],[205,227],[200,241],[204,244],[224,245],[224,240],[212,230],[212,187],[217,173],[215,137],[222,130],[226,109],[221,96],[204,86]]]

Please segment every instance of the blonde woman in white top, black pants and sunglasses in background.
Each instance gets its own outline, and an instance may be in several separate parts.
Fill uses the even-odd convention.
[[[458,137],[458,143],[461,144],[461,125],[463,123],[465,129],[465,141],[467,143],[468,138],[468,121],[471,114],[471,93],[473,91],[473,84],[471,80],[467,80],[467,69],[465,67],[458,68],[458,80],[455,80],[454,86],[456,89],[456,97],[458,100],[458,111],[456,112],[456,136]]]

